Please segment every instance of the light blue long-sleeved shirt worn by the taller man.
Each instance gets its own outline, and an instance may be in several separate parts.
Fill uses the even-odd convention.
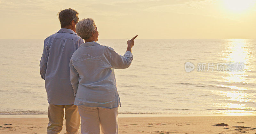
[[[73,30],[61,28],[44,40],[40,61],[40,74],[45,80],[48,103],[74,104],[75,97],[70,83],[69,61],[72,54],[84,43]]]

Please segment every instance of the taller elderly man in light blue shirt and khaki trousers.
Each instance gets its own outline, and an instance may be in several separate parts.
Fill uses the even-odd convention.
[[[58,134],[63,127],[65,110],[67,134],[79,133],[80,116],[74,106],[74,92],[70,83],[69,61],[84,41],[76,34],[78,12],[65,9],[58,13],[61,29],[44,40],[40,74],[45,80],[48,97],[48,134]]]

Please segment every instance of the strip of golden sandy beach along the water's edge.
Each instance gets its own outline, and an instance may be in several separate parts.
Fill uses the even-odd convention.
[[[121,117],[119,133],[255,134],[255,120],[256,116]],[[48,118],[0,118],[0,133],[45,134],[47,123]],[[61,134],[66,133],[65,122],[63,128]]]

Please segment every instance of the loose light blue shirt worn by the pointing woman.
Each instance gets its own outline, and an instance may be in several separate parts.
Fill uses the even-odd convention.
[[[112,48],[96,42],[81,44],[69,65],[70,80],[76,95],[74,105],[108,109],[121,106],[114,68],[128,68],[132,59],[130,51],[121,56]]]

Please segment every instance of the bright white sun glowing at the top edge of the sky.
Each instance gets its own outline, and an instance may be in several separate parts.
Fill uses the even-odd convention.
[[[249,10],[255,4],[255,0],[223,0],[225,7],[236,13],[241,13]]]

